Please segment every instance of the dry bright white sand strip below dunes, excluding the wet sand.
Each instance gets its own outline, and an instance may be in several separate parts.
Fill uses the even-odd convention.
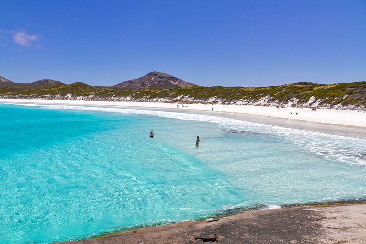
[[[334,125],[348,125],[366,127],[366,112],[352,110],[330,110],[319,109],[312,111],[310,108],[275,108],[262,106],[244,106],[244,105],[211,105],[211,104],[176,104],[160,102],[106,102],[106,101],[79,101],[79,100],[30,100],[30,99],[0,99],[3,103],[52,103],[69,105],[95,105],[95,106],[119,106],[119,107],[144,107],[144,108],[163,108],[243,113],[251,115],[270,116],[275,118],[284,118],[292,120],[311,121],[317,123],[326,123]],[[177,107],[179,105],[179,108]],[[292,114],[291,114],[292,113]],[[298,113],[298,115],[296,115]]]

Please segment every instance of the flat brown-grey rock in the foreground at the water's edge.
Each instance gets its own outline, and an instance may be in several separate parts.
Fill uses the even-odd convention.
[[[206,243],[366,243],[366,205],[257,210],[215,221],[145,227],[77,243],[203,243],[203,239]]]

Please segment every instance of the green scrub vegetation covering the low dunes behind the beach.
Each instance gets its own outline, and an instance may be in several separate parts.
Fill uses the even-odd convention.
[[[70,85],[27,86],[28,84],[0,85],[0,97],[68,99],[84,97],[89,100],[144,100],[168,99],[170,102],[254,103],[266,98],[267,103],[297,105],[319,102],[319,106],[355,106],[366,108],[366,82],[332,85],[299,82],[270,87],[186,87],[172,89],[120,90],[114,87],[94,87],[77,82]],[[70,95],[68,95],[70,94]],[[92,96],[90,98],[85,98]],[[69,99],[72,99],[69,97]],[[311,103],[309,104],[311,106]]]

